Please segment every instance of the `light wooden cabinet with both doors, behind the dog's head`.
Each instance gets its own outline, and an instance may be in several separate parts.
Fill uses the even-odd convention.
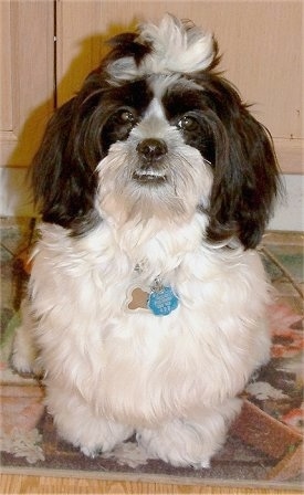
[[[61,105],[98,64],[106,39],[170,11],[216,33],[220,69],[270,129],[283,171],[301,172],[302,1],[15,0],[0,8],[2,166],[30,162],[52,112],[54,76]]]

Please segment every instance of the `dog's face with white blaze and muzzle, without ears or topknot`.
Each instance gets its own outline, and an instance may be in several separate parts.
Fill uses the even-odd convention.
[[[102,212],[165,223],[206,209],[214,141],[201,89],[180,76],[153,75],[124,84],[123,98],[115,93],[97,167]]]

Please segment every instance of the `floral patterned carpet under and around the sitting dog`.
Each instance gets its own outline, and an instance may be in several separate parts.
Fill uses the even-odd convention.
[[[9,362],[29,276],[24,261],[34,239],[34,219],[2,219],[2,472],[303,488],[303,238],[300,234],[269,233],[261,245],[275,293],[270,308],[272,357],[245,387],[242,412],[208,470],[172,467],[148,459],[134,438],[92,460],[57,436],[43,407],[43,383],[18,376]]]

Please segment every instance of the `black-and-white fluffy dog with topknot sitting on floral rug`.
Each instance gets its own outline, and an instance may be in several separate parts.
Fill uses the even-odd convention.
[[[280,190],[269,131],[218,43],[165,15],[109,41],[34,157],[40,239],[12,351],[59,434],[94,457],[208,467],[269,359],[256,246]]]

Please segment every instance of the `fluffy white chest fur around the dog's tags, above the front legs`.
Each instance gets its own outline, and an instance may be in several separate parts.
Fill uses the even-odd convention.
[[[53,382],[76,387],[111,418],[143,423],[242,390],[269,351],[268,284],[255,252],[207,246],[203,230],[201,215],[161,231],[104,222],[82,239],[42,225],[31,292]],[[164,317],[129,310],[129,288],[156,276],[178,307]]]

